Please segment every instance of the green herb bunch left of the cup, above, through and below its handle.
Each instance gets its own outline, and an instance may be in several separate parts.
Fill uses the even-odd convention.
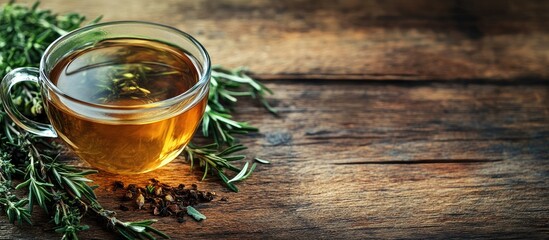
[[[52,41],[85,20],[79,14],[56,15],[37,7],[38,3],[28,8],[11,1],[1,9],[0,76],[17,67],[37,66]],[[21,84],[11,95],[21,112],[44,118],[36,86]],[[0,209],[10,222],[30,224],[32,209],[38,205],[51,216],[62,239],[77,239],[78,232],[88,229],[80,222],[87,213],[127,239],[154,239],[152,234],[169,238],[151,226],[155,220],[123,222],[104,209],[94,194],[96,186],[88,185],[91,180],[86,178],[95,170],[60,163],[55,143],[19,130],[3,110],[0,129]]]

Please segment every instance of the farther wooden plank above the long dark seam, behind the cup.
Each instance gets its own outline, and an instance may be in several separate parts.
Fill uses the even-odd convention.
[[[43,7],[175,26],[201,41],[214,63],[248,66],[263,79],[549,77],[544,1],[50,0]]]

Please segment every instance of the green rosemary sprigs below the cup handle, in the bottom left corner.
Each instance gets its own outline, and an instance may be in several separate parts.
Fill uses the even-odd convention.
[[[7,124],[5,118],[2,118],[2,121],[2,124]],[[30,223],[30,213],[32,212],[33,203],[36,203],[50,214],[53,223],[56,225],[55,231],[63,234],[62,239],[78,239],[77,233],[89,228],[80,224],[80,219],[85,216],[88,210],[91,210],[106,222],[107,229],[115,230],[124,238],[152,239],[151,233],[162,238],[169,238],[150,226],[155,220],[122,222],[114,217],[115,212],[104,209],[97,201],[93,191],[97,186],[89,186],[88,183],[91,180],[86,178],[87,175],[97,173],[97,171],[83,170],[60,163],[55,158],[55,154],[59,149],[54,145],[27,133],[19,132],[16,128],[10,127],[8,129],[9,134],[0,132],[4,143],[0,149],[6,151],[3,156],[27,154],[27,157],[23,159],[3,159],[9,164],[2,162],[2,166],[5,166],[2,168],[2,173],[11,173],[13,175],[13,173],[23,172],[22,169],[25,169],[25,181],[15,188],[28,189],[28,198],[21,199],[16,203],[14,203],[16,198],[13,195],[11,197],[7,197],[7,194],[2,196],[0,192],[0,203],[8,206],[6,213],[10,221],[17,220],[18,223],[21,223],[24,220]],[[13,136],[17,137],[14,138]],[[38,146],[40,146],[40,152]],[[24,160],[24,162],[21,162],[21,160]],[[18,164],[13,165],[13,163]],[[3,186],[7,183],[6,179],[2,177]],[[6,189],[12,188],[11,185],[6,186]],[[9,192],[5,191],[4,193]]]

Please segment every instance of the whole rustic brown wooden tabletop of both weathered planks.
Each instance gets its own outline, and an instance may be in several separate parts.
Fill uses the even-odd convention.
[[[0,1],[0,2],[6,2]],[[19,1],[33,2],[33,1]],[[44,1],[103,21],[187,31],[213,62],[248,66],[275,91],[273,117],[236,118],[270,159],[226,191],[184,159],[137,176],[197,183],[228,198],[208,219],[155,225],[175,239],[549,238],[549,4],[544,1]],[[78,162],[74,162],[78,164]],[[0,218],[0,238],[56,239]],[[119,212],[123,220],[144,217]],[[36,220],[38,219],[38,220]],[[43,219],[43,220],[40,220]],[[94,221],[84,239],[112,239]]]

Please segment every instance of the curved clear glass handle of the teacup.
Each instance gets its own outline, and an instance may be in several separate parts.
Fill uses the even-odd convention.
[[[0,84],[0,100],[4,105],[4,110],[8,116],[10,116],[11,120],[13,120],[13,122],[15,122],[15,124],[19,127],[38,136],[57,137],[57,133],[53,129],[52,125],[33,121],[21,114],[17,110],[17,107],[13,103],[10,96],[11,89],[15,86],[15,84],[25,81],[38,84],[39,76],[40,72],[37,68],[25,67],[10,71]]]

